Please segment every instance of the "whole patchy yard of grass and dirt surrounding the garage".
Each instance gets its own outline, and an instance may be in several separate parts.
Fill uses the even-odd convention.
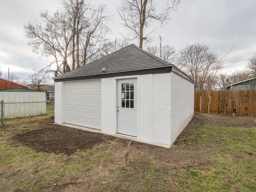
[[[195,115],[170,149],[53,124],[0,129],[0,191],[256,191],[252,117]]]

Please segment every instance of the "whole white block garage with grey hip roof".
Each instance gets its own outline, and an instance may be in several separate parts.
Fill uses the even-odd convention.
[[[194,115],[194,81],[134,44],[54,82],[55,123],[69,127],[169,148]]]

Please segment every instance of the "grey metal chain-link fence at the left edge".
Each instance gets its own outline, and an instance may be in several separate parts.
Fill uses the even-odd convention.
[[[0,102],[1,124],[4,119],[46,114],[46,101]]]

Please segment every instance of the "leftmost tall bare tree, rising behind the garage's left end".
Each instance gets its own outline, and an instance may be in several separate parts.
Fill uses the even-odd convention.
[[[31,39],[29,45],[34,52],[54,58],[46,68],[55,63],[57,74],[66,73],[70,71],[67,59],[71,54],[68,47],[72,37],[67,15],[57,11],[50,16],[46,11],[41,13],[41,18],[44,26],[41,23],[25,25],[26,35]]]

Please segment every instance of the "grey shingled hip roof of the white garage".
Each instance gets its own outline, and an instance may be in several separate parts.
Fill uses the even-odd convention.
[[[59,77],[55,77],[54,81],[69,81],[72,79],[78,79],[78,77],[95,78],[95,76],[97,76],[98,78],[103,78],[103,76],[109,77],[106,76],[107,74],[118,74],[147,69],[160,70],[161,68],[166,67],[169,67],[170,71],[171,67],[173,67],[178,75],[194,83],[190,77],[177,69],[171,63],[140,49],[134,44],[128,45],[121,50],[106,55],[101,59],[88,63],[87,65],[79,67],[75,70],[69,71],[68,73],[65,73]],[[102,71],[102,68],[105,68],[105,71]]]

